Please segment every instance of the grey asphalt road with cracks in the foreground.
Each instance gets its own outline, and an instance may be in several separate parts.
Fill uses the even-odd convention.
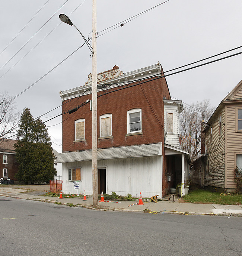
[[[0,197],[0,255],[242,255],[240,217],[101,212]]]

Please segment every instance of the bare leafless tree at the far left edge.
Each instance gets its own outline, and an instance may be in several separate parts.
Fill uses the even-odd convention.
[[[0,95],[0,143],[17,127],[19,114],[15,112],[13,98],[8,93]]]

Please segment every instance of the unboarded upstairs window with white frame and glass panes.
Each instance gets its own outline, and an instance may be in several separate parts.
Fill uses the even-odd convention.
[[[127,112],[127,133],[141,132],[141,108]]]

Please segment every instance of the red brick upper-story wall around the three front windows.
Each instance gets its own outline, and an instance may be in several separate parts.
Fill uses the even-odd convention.
[[[120,88],[122,87],[108,89],[106,92]],[[103,95],[104,93],[104,91],[98,92],[98,95]],[[164,142],[164,96],[170,99],[165,78],[161,78],[99,97],[98,137],[99,116],[112,114],[113,138],[98,139],[98,148]],[[92,94],[89,94],[80,98],[74,98],[71,101],[64,101],[63,112],[82,104],[82,102],[91,99],[91,97]],[[142,110],[141,122],[143,134],[125,136],[127,134],[127,111],[133,108],[141,108]],[[80,118],[85,119],[85,141],[74,142],[74,121]],[[77,151],[91,148],[92,112],[90,111],[89,104],[87,104],[73,114],[63,115],[63,151]]]

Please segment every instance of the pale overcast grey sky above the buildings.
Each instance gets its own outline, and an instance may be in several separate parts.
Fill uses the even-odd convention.
[[[114,65],[127,73],[158,61],[168,71],[242,45],[241,0],[164,1],[97,1],[98,73]],[[90,38],[92,1],[8,0],[1,1],[1,10],[0,93],[15,97],[31,86],[15,98],[16,112],[21,114],[27,107],[37,118],[56,108],[43,115],[42,121],[59,115],[60,90],[84,85],[92,72],[90,50],[84,45],[73,53],[83,38],[76,28],[61,22],[59,14],[69,16]],[[122,27],[112,27],[122,23]],[[242,48],[208,61],[239,52]],[[170,75],[166,80],[171,97],[181,100],[184,107],[203,99],[217,107],[242,80],[241,67],[239,54]],[[52,148],[58,152],[62,152],[61,120],[58,116],[45,123]]]

